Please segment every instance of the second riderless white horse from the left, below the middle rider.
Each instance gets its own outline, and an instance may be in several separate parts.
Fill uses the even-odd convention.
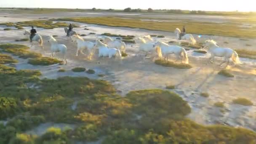
[[[72,42],[77,42],[77,53],[76,56],[78,56],[78,51],[83,53],[83,50],[87,50],[89,54],[89,59],[91,59],[93,48],[95,47],[95,43],[93,42],[86,42],[84,39],[78,35],[71,36]],[[84,53],[83,53],[84,54]]]

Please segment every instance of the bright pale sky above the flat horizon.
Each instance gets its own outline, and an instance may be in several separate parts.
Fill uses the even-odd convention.
[[[255,2],[253,2],[255,1]],[[0,7],[256,11],[256,0],[0,0]]]

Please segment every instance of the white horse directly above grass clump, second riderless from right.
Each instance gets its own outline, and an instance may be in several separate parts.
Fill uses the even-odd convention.
[[[153,45],[154,48],[156,48],[156,52],[158,53],[158,56],[164,55],[165,59],[168,61],[168,55],[169,54],[175,54],[176,59],[180,59],[182,62],[182,55],[184,56],[185,63],[189,63],[189,59],[187,57],[187,52],[184,48],[178,46],[178,45],[168,45],[167,43],[163,43],[160,41],[157,41],[155,45]],[[161,54],[160,54],[161,53]],[[161,56],[160,56],[161,58]]]

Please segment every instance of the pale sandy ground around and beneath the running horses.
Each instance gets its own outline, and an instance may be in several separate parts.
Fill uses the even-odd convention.
[[[45,17],[45,16],[44,16]],[[59,17],[59,16],[58,16]],[[80,24],[80,23],[77,23]],[[80,24],[81,28],[76,28],[79,34],[88,34],[95,32],[96,35],[88,35],[86,40],[95,40],[99,34],[109,32],[121,35],[135,35],[136,37],[147,34],[165,35],[165,38],[155,39],[170,41],[174,39],[173,33],[148,31],[141,29],[113,28],[97,26],[90,24]],[[90,30],[84,30],[87,26]],[[206,65],[208,54],[193,53],[187,51],[192,69],[174,69],[166,68],[154,64],[152,58],[145,59],[144,53],[137,51],[137,44],[128,45],[128,57],[120,61],[108,58],[97,58],[89,61],[85,56],[75,56],[76,45],[64,36],[63,28],[56,29],[38,29],[39,34],[43,35],[44,50],[38,47],[31,48],[32,51],[43,53],[45,56],[50,55],[50,44],[47,42],[48,35],[59,35],[56,39],[59,43],[68,47],[68,64],[53,66],[32,66],[27,64],[27,60],[19,59],[20,63],[16,65],[17,69],[40,69],[42,77],[57,78],[65,75],[69,76],[86,76],[89,78],[104,79],[111,82],[117,88],[118,92],[125,96],[126,93],[133,90],[161,88],[165,89],[166,85],[176,85],[173,90],[179,93],[192,107],[192,113],[188,117],[201,124],[226,124],[235,127],[245,127],[256,131],[256,106],[251,107],[232,104],[232,100],[238,97],[244,97],[256,104],[256,61],[251,59],[241,59],[243,64],[235,67],[229,67],[234,78],[226,78],[217,75],[222,68],[216,64]],[[15,39],[23,38],[22,30],[0,31],[0,43],[19,43],[29,45],[28,42],[14,42]],[[194,35],[197,37],[197,35]],[[210,36],[204,35],[204,40]],[[212,37],[219,45],[230,48],[245,49],[245,44],[256,45],[256,39],[240,40],[234,37]],[[229,44],[224,44],[227,41]],[[246,49],[253,50],[252,47]],[[58,56],[58,55],[57,55]],[[58,73],[58,68],[64,68],[67,72]],[[74,73],[71,71],[74,67],[85,67],[96,70],[95,75],[86,73]],[[98,77],[98,74],[105,74],[105,77]],[[208,92],[209,98],[200,96],[201,92]],[[213,104],[217,101],[223,101],[225,104],[224,112],[216,108]],[[52,124],[48,124],[52,125]]]

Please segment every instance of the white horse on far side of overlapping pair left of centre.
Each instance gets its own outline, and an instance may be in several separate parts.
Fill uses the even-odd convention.
[[[123,53],[125,52],[126,45],[121,40],[113,40],[108,36],[102,36],[100,37],[100,40],[102,40],[103,43],[107,44],[109,48],[117,48]]]

